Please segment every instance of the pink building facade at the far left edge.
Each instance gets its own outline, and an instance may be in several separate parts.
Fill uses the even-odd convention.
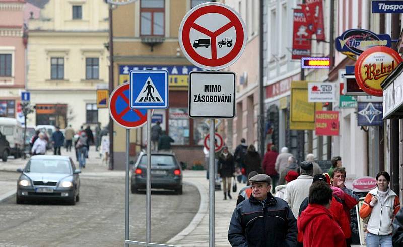
[[[0,1],[0,117],[21,119],[21,91],[25,88],[26,36],[21,0]]]

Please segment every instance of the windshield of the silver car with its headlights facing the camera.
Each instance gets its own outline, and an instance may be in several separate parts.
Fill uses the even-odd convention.
[[[67,160],[31,159],[25,168],[27,173],[71,173],[71,166]]]

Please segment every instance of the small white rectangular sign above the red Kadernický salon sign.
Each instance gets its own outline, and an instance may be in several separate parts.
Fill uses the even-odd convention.
[[[335,83],[308,83],[308,102],[336,102]]]

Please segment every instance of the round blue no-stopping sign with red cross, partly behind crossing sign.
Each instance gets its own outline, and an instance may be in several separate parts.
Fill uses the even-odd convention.
[[[147,110],[130,108],[129,94],[129,83],[122,84],[113,90],[109,97],[109,114],[113,121],[123,128],[140,128],[147,122]]]

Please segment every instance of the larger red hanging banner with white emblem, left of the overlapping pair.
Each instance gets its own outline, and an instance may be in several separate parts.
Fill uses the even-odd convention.
[[[293,52],[291,59],[301,59],[311,55],[312,35],[302,9],[294,9]]]

